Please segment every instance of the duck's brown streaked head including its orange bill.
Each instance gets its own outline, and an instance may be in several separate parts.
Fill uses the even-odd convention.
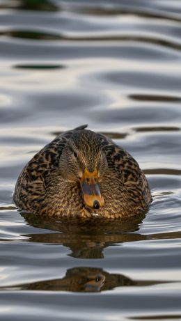
[[[107,157],[95,132],[77,130],[72,134],[61,154],[59,169],[65,180],[79,184],[88,207],[104,205],[99,183],[107,170]]]

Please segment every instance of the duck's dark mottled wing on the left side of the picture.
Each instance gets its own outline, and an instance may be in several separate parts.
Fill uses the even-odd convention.
[[[56,138],[40,150],[20,173],[15,186],[14,201],[19,208],[38,210],[38,203],[45,197],[45,179],[58,167],[63,148],[74,131],[84,130],[81,125],[74,130],[58,134]]]

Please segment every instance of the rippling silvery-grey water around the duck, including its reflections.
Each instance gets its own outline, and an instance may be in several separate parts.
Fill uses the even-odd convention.
[[[0,319],[181,320],[181,1],[0,1]],[[148,175],[145,217],[22,216],[19,171],[88,123]]]

